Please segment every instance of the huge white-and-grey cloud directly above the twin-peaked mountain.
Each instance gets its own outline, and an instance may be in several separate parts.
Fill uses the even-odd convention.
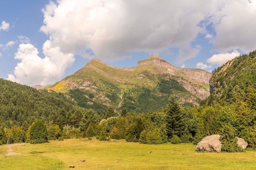
[[[132,51],[159,53],[170,46],[181,47],[179,62],[194,57],[198,49],[186,44],[204,32],[199,24],[210,8],[201,0],[57,2],[43,9],[40,30],[63,52],[101,60],[129,57]]]

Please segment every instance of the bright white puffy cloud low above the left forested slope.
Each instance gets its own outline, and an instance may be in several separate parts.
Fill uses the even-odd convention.
[[[14,69],[14,74],[8,74],[8,80],[27,85],[47,85],[60,79],[65,69],[74,62],[73,54],[64,54],[59,47],[52,46],[50,41],[43,45],[46,55],[38,56],[38,49],[32,44],[20,44],[15,59],[21,62]]]

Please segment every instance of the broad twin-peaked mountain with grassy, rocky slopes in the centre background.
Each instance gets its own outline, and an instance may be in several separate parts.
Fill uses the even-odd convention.
[[[144,112],[164,109],[170,94],[180,104],[198,105],[209,95],[210,77],[211,73],[201,69],[175,67],[159,55],[139,61],[132,68],[118,68],[92,59],[48,90],[68,93],[82,107],[126,107]]]

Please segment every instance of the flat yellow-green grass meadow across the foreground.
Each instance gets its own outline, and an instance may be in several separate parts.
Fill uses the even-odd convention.
[[[0,146],[0,155],[7,153],[6,146]],[[255,150],[243,153],[196,152],[192,144],[146,145],[93,138],[20,144],[12,149],[22,155],[0,156],[0,170],[70,170],[69,165],[74,165],[72,169],[76,170],[256,169]]]

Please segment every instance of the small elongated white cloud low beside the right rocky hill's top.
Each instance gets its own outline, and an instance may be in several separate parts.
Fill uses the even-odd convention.
[[[209,58],[207,60],[207,62],[211,63],[211,64],[222,65],[222,64],[225,64],[227,61],[232,60],[239,55],[240,55],[240,53],[236,50],[234,50],[232,53],[215,54],[211,58]]]

